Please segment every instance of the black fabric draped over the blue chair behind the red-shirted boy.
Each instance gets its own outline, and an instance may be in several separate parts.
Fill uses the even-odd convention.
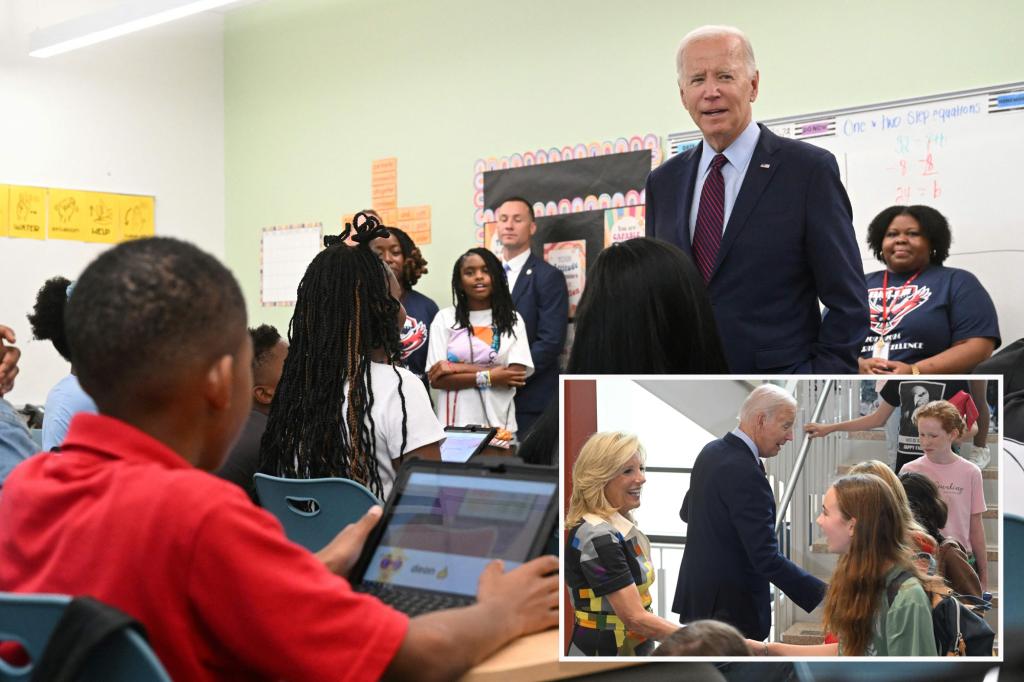
[[[92,597],[72,599],[36,662],[32,680],[74,682],[97,646],[129,628],[145,637],[141,624],[127,613]]]

